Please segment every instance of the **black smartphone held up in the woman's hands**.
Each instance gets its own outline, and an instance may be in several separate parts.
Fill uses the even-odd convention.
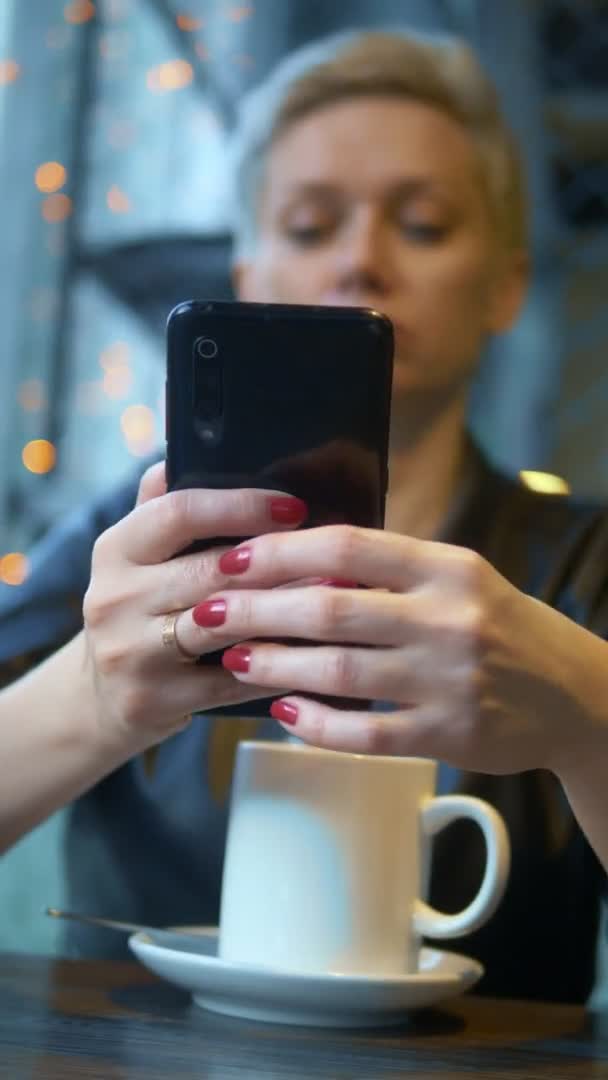
[[[306,501],[303,528],[381,528],[392,362],[392,325],[367,308],[179,303],[167,321],[168,489],[278,489]]]

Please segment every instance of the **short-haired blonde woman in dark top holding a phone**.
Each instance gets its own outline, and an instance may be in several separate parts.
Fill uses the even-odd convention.
[[[527,273],[519,165],[494,92],[458,44],[334,39],[288,59],[245,104],[234,167],[243,299],[368,305],[394,322],[387,531],[296,530],[306,508],[285,492],[166,495],[156,465],[131,513],[125,490],[48,540],[2,632],[14,654],[31,613],[67,611],[70,597],[66,638],[87,585],[84,626],[0,698],[3,845],[80,796],[68,828],[75,906],[213,920],[226,825],[218,731],[243,728],[190,714],[272,694],[289,733],[434,756],[443,789],[494,801],[512,833],[512,879],[462,948],[486,963],[488,993],[583,1000],[603,888],[592,849],[608,865],[608,530],[593,507],[500,476],[465,432],[482,346],[516,318]],[[255,539],[172,558],[218,535]],[[310,579],[334,588],[274,588]],[[272,644],[289,636],[326,644]],[[25,638],[39,652],[60,639],[43,621]],[[218,648],[221,670],[190,663]],[[340,713],[307,697],[319,691],[386,707]],[[148,775],[147,752],[166,740]],[[461,906],[478,867],[465,826],[443,837],[433,902]]]

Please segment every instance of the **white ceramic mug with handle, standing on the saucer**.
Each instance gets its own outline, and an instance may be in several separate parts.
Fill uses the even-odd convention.
[[[421,935],[470,933],[490,918],[510,845],[492,807],[434,796],[436,762],[242,742],[221,889],[219,955],[292,972],[394,975],[418,970]],[[484,879],[462,912],[423,902],[431,837],[457,818],[479,825]]]

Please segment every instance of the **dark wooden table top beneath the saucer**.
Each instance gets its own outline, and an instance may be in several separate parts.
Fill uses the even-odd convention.
[[[1,1080],[596,1080],[608,1015],[460,998],[403,1027],[215,1016],[131,963],[0,955]]]

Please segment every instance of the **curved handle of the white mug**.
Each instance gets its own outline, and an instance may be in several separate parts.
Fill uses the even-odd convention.
[[[511,845],[506,826],[483,799],[471,795],[438,795],[421,807],[421,827],[425,837],[434,836],[457,818],[474,821],[486,841],[486,868],[474,900],[456,915],[437,912],[417,900],[414,905],[414,930],[429,937],[461,937],[477,930],[494,915],[502,900],[511,866]]]

